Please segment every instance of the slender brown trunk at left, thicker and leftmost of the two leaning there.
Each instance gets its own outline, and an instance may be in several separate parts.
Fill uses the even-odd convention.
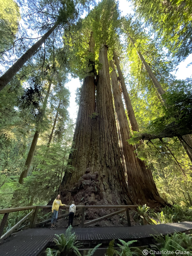
[[[47,100],[48,100],[48,97],[49,97],[49,92],[50,92],[51,84],[52,84],[52,78],[49,81],[49,87],[47,89],[45,100],[43,102],[41,117],[39,119],[40,123],[42,122],[42,119],[43,119],[43,117],[45,115],[45,109],[46,109]],[[21,173],[21,175],[19,177],[19,183],[20,184],[23,184],[23,179],[27,177],[27,175],[29,173],[30,166],[31,166],[31,162],[33,160],[33,156],[34,156],[34,153],[35,153],[35,148],[36,148],[38,137],[39,137],[39,133],[40,133],[40,125],[37,124],[37,127],[39,129],[37,128],[37,130],[35,131],[35,134],[34,134],[34,137],[33,137],[33,141],[31,143],[31,146],[30,146],[30,149],[29,149],[29,153],[27,155],[27,159],[25,161],[24,170],[23,170],[23,172]]]

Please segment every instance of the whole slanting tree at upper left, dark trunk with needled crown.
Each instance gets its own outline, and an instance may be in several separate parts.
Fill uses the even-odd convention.
[[[17,59],[17,61],[11,66],[0,78],[0,91],[7,85],[9,81],[12,80],[12,78],[15,76],[15,74],[24,66],[26,61],[28,61],[42,46],[43,43],[49,38],[49,36],[53,33],[56,29],[64,30],[68,29],[70,30],[70,26],[72,24],[77,23],[78,18],[79,18],[79,12],[78,10],[80,9],[82,11],[83,6],[87,6],[87,2],[82,2],[81,1],[73,1],[73,0],[66,0],[66,1],[56,1],[51,4],[47,2],[41,2],[39,1],[38,3],[34,3],[33,1],[29,2],[29,5],[31,5],[31,8],[33,10],[34,6],[37,8],[37,10],[32,11],[32,15],[29,14],[29,17],[33,16],[34,13],[39,15],[41,18],[42,24],[40,24],[40,27],[42,28],[43,32],[46,31],[46,33],[39,39],[35,44],[31,46],[27,51],[26,48],[28,46],[24,46],[23,48],[25,49],[25,53]],[[39,10],[40,9],[40,10]],[[47,12],[45,12],[45,9],[47,9]],[[80,12],[81,13],[81,12]],[[34,15],[35,16],[35,15]],[[28,17],[28,19],[29,19]],[[47,22],[47,20],[50,21],[50,23]],[[33,29],[39,30],[39,24],[37,21],[34,22],[36,27],[34,28],[33,25],[30,25],[30,29],[33,27]],[[30,24],[33,24],[33,22]],[[51,28],[50,28],[51,27]],[[42,30],[40,33],[42,33]],[[60,36],[58,38],[55,37],[55,35],[59,34],[58,30],[56,33],[52,36],[53,40],[53,48],[54,44],[58,43],[60,40]],[[59,30],[59,31],[60,31]],[[38,37],[39,38],[39,37]],[[33,39],[33,38],[31,38]],[[58,40],[57,40],[58,39]],[[17,40],[19,41],[19,39]],[[21,38],[22,41],[22,38]],[[62,45],[62,43],[60,42]],[[62,45],[63,46],[63,45]],[[54,50],[54,49],[53,49]],[[17,54],[19,55],[20,51],[17,51]],[[45,57],[45,51],[44,51],[44,57]],[[9,63],[10,65],[10,63]],[[43,64],[44,65],[44,64]]]

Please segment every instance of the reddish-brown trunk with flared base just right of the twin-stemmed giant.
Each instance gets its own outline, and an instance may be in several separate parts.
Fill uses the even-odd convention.
[[[127,142],[130,138],[130,129],[121,98],[121,92],[119,90],[117,74],[112,60],[110,60],[110,66],[113,69],[111,72],[111,84],[115,110],[120,127],[129,194],[131,195],[132,201],[136,204],[155,206],[155,203],[160,203],[160,205],[165,205],[164,200],[158,194],[151,170],[147,169],[145,163],[136,157],[134,147]]]

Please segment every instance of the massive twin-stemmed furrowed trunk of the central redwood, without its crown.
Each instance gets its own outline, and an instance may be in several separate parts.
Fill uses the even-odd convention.
[[[72,197],[85,204],[93,204],[93,201],[99,204],[130,204],[104,45],[99,52],[99,62],[103,65],[98,74],[96,109],[94,78],[89,76],[83,81],[73,137],[74,150],[69,156],[75,169],[72,173],[65,173],[61,191],[65,202]]]

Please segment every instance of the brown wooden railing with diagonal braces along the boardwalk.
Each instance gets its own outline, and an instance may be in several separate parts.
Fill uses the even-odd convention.
[[[136,208],[138,207],[137,205],[76,205],[76,213],[81,212],[81,227],[87,227],[90,224],[93,224],[95,222],[98,222],[100,220],[104,220],[107,218],[110,218],[114,215],[120,214],[122,212],[126,211],[126,216],[127,216],[127,225],[129,227],[131,227],[131,222],[130,222],[130,215],[129,215],[129,209],[130,208]],[[0,225],[0,239],[5,239],[7,238],[23,221],[25,221],[30,215],[32,215],[31,220],[30,220],[30,228],[35,228],[36,225],[40,226],[43,225],[45,223],[48,223],[51,221],[51,219],[49,220],[45,220],[45,221],[41,221],[39,223],[36,224],[36,220],[37,220],[37,213],[39,209],[51,209],[52,206],[50,205],[46,205],[46,206],[26,206],[26,207],[16,207],[16,208],[7,208],[7,209],[1,209],[0,210],[0,214],[4,214],[3,219],[1,221],[1,225]],[[62,206],[59,209],[67,209],[69,208],[69,206]],[[93,208],[97,208],[97,209],[109,209],[109,208],[122,208],[121,210],[112,212],[108,215],[105,215],[103,217],[97,218],[95,220],[91,220],[88,222],[84,222],[84,214],[85,214],[85,209],[93,209]],[[32,210],[30,211],[23,219],[21,219],[15,226],[13,226],[11,229],[9,229],[3,236],[3,229],[6,225],[6,221],[8,218],[8,215],[10,212],[16,212],[16,211],[24,211],[24,210]],[[63,218],[63,217],[67,217],[68,213],[63,214],[61,216],[58,217],[58,219]]]

